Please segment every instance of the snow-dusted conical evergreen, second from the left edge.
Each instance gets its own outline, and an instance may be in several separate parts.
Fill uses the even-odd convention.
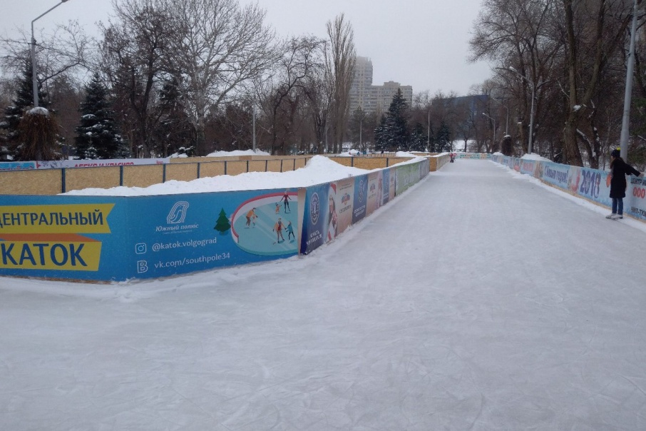
[[[81,103],[81,123],[76,127],[76,156],[78,158],[123,158],[129,151],[117,133],[114,112],[108,101],[108,90],[98,73],[86,86],[86,98]]]

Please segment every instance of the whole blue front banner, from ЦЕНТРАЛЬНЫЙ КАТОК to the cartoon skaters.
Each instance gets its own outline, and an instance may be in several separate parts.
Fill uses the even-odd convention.
[[[0,275],[127,280],[298,253],[297,189],[3,196]]]

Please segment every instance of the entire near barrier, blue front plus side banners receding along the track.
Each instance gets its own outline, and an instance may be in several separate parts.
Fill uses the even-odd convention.
[[[430,164],[287,190],[0,196],[0,275],[113,282],[306,255],[419,182]]]

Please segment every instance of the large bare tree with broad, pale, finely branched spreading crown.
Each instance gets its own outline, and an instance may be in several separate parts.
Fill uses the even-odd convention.
[[[173,34],[176,75],[197,131],[197,151],[205,144],[205,118],[211,108],[230,100],[233,92],[262,74],[275,61],[274,32],[265,26],[257,4],[237,0],[156,0],[168,14]]]

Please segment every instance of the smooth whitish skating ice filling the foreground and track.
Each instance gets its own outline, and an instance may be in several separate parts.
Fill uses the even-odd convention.
[[[0,430],[643,430],[645,223],[491,161],[303,258],[0,279]]]

